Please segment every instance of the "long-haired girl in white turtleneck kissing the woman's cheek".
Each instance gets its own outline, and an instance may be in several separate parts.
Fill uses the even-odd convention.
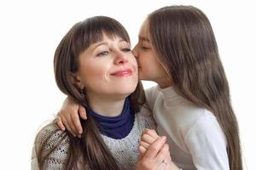
[[[157,132],[168,136],[172,161],[183,169],[241,170],[236,116],[207,16],[191,6],[155,10],[144,21],[133,53],[139,78],[158,83],[146,90],[146,100]],[[64,117],[66,126],[78,122],[69,118],[78,116],[78,107],[63,106],[60,126]],[[155,138],[154,131],[143,133],[142,154]]]

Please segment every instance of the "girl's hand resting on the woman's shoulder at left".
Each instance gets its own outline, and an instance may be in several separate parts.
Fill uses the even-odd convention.
[[[56,122],[61,130],[64,131],[67,128],[67,130],[72,133],[74,137],[80,137],[80,135],[83,133],[83,129],[79,116],[84,120],[87,119],[84,106],[77,104],[75,101],[73,101],[73,99],[67,97],[67,99],[65,99],[63,102],[61,110],[56,116]]]

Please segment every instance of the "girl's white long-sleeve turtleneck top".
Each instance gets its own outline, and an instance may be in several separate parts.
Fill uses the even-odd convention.
[[[178,167],[198,170],[228,170],[227,142],[216,117],[170,88],[146,89],[160,135],[166,135],[172,161]]]

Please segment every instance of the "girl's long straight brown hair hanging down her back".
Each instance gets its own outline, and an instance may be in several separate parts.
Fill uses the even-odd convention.
[[[229,84],[207,16],[192,6],[169,6],[148,15],[150,40],[177,92],[217,117],[227,139],[230,169],[241,170],[236,116]]]

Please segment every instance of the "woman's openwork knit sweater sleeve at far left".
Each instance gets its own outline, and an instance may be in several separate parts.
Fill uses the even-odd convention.
[[[68,156],[68,148],[69,144],[66,133],[57,129],[54,124],[49,124],[38,133],[37,138],[35,139],[32,150],[31,169],[39,169],[38,157],[36,154],[39,150],[42,150],[41,156],[46,156],[43,167],[44,170],[64,169]]]

